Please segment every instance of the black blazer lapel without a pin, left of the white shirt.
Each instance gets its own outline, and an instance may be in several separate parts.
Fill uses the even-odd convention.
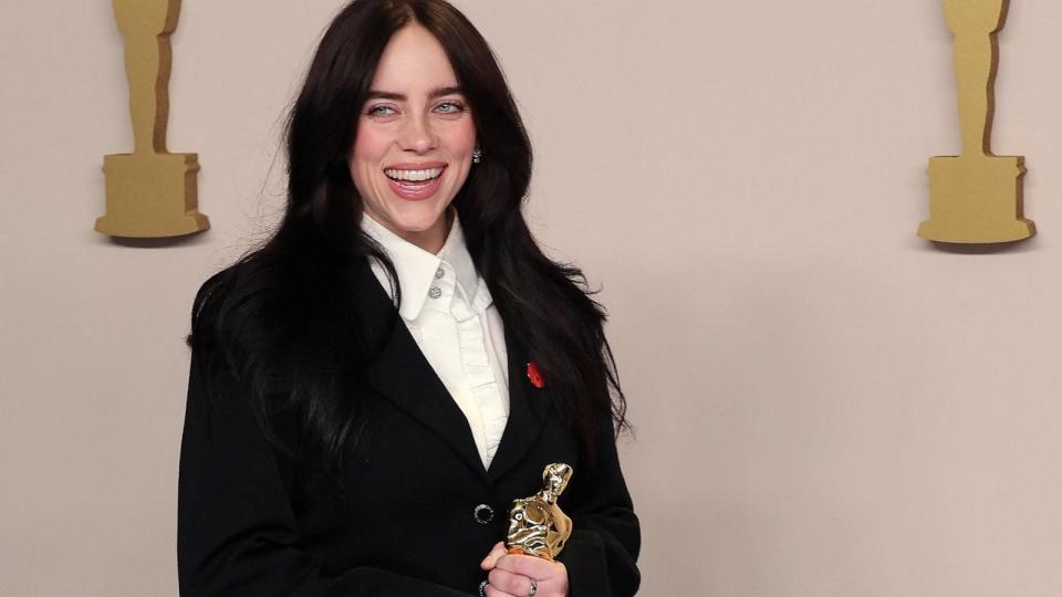
[[[369,384],[384,398],[439,436],[479,475],[485,475],[487,471],[468,419],[424,357],[394,302],[367,265],[357,284],[361,307],[374,325],[381,325],[377,334],[384,338],[377,358],[367,367]]]

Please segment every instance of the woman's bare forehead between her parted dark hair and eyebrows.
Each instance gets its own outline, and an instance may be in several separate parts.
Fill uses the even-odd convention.
[[[431,32],[412,23],[391,36],[376,66],[374,90],[412,93],[448,86],[457,86],[457,75]]]

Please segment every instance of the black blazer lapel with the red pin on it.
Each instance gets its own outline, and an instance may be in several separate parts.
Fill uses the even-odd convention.
[[[509,420],[490,462],[487,474],[497,481],[514,467],[534,446],[550,410],[546,388],[537,388],[528,379],[527,352],[514,342],[506,327],[506,350],[509,355]]]

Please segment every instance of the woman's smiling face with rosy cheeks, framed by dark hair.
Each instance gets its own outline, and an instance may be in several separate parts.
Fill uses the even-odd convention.
[[[444,213],[472,164],[476,126],[446,51],[424,27],[392,38],[351,151],[354,187],[374,220],[437,253]]]

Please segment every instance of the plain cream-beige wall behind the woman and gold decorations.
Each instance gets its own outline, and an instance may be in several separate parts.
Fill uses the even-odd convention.
[[[336,0],[186,0],[170,148],[214,229],[92,231],[129,148],[104,0],[0,4],[0,594],[176,595],[198,283],[275,214],[284,106]],[[531,216],[611,308],[643,595],[1062,586],[1062,4],[1017,1],[996,149],[1041,235],[915,237],[958,148],[934,0],[461,0],[538,151]]]

